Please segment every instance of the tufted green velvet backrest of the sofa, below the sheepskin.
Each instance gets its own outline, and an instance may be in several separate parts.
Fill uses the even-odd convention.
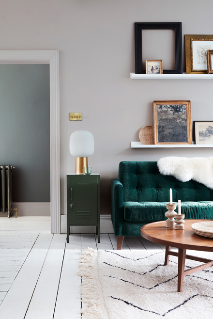
[[[181,182],[173,176],[161,175],[155,161],[122,161],[119,181],[123,184],[124,202],[213,201],[213,190],[194,180]]]

